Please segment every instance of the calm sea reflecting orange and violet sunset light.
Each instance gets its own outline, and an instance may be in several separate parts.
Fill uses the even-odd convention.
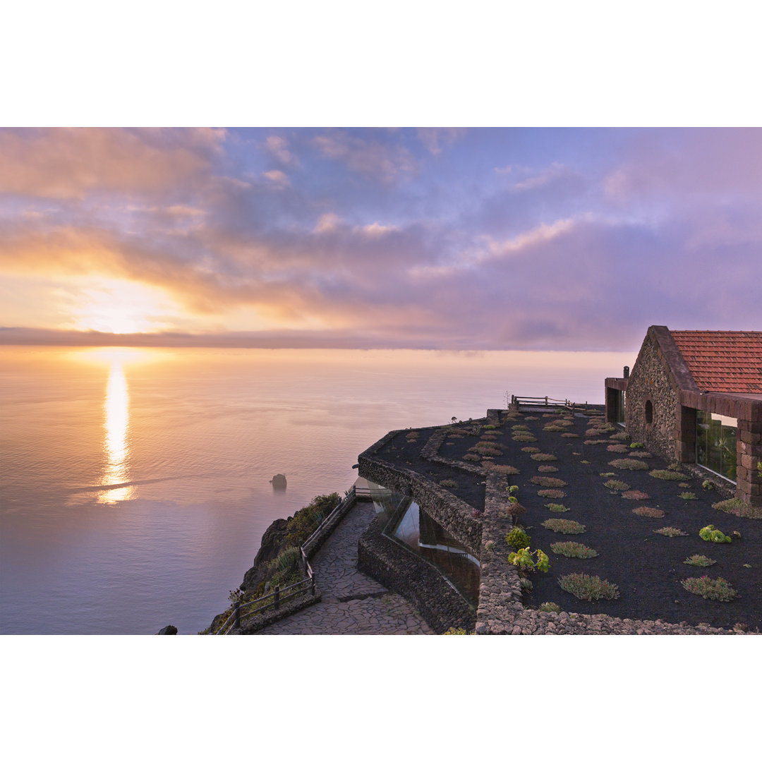
[[[394,428],[603,402],[631,353],[0,348],[0,632],[206,627]],[[288,479],[274,492],[276,473]]]

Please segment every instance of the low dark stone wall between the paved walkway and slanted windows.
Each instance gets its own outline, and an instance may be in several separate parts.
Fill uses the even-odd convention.
[[[474,628],[476,613],[420,555],[385,536],[377,518],[357,543],[357,568],[411,602],[437,635],[450,627]]]

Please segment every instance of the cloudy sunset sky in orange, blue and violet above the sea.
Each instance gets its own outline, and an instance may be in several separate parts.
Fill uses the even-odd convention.
[[[755,128],[0,130],[6,344],[628,351],[760,252]]]

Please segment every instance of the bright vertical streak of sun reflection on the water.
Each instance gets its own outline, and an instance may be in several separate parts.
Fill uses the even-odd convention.
[[[130,433],[130,392],[124,377],[122,363],[114,359],[108,376],[106,401],[104,402],[104,450],[106,466],[101,485],[122,484],[130,480],[127,459],[130,456],[128,434]],[[133,487],[124,486],[106,489],[99,494],[98,501],[113,504],[120,500],[129,500],[133,496]]]

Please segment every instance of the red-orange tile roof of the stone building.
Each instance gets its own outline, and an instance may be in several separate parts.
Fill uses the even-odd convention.
[[[762,393],[762,331],[670,331],[702,392]]]

